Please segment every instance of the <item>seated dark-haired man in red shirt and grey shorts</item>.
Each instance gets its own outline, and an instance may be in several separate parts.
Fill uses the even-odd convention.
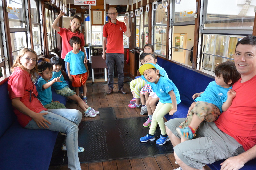
[[[185,118],[165,123],[180,165],[177,169],[204,169],[205,164],[226,159],[221,170],[238,170],[256,158],[256,36],[238,41],[234,60],[241,75],[232,87],[236,97],[215,122],[202,122],[194,139],[185,142],[176,131]]]

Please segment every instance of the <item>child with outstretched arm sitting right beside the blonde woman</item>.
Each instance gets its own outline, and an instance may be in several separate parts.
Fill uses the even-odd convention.
[[[52,78],[52,69],[52,64],[49,62],[42,61],[38,63],[37,70],[41,77],[37,82],[37,97],[47,109],[65,109],[66,107],[62,103],[52,100],[52,91],[50,87],[55,82],[61,82],[59,77],[49,81]]]

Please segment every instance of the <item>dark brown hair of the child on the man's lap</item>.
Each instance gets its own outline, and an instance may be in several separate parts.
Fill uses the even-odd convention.
[[[223,80],[226,84],[229,80],[232,80],[230,85],[233,85],[241,77],[241,75],[237,72],[235,63],[233,61],[220,63],[215,67],[214,71],[217,77],[223,77]]]

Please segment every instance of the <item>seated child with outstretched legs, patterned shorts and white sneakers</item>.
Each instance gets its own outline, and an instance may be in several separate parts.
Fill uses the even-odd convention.
[[[50,60],[50,63],[53,65],[53,78],[59,77],[62,82],[55,82],[52,86],[55,89],[55,92],[57,94],[60,94],[62,96],[68,97],[72,100],[75,100],[78,103],[78,106],[84,111],[85,117],[95,117],[97,114],[99,114],[98,111],[94,110],[93,108],[89,107],[87,104],[84,103],[84,101],[76,95],[76,93],[71,90],[68,87],[68,84],[64,80],[63,76],[61,74],[61,68],[62,68],[62,60],[60,57],[52,57]],[[51,80],[52,80],[51,79]]]

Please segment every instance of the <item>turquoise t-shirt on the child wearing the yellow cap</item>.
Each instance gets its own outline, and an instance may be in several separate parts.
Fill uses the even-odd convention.
[[[156,95],[159,97],[159,101],[161,103],[172,103],[170,95],[168,94],[168,92],[170,92],[171,90],[173,90],[174,94],[176,95],[177,104],[181,102],[179,90],[169,78],[160,76],[157,83],[150,82],[150,85],[153,92],[155,92]]]

